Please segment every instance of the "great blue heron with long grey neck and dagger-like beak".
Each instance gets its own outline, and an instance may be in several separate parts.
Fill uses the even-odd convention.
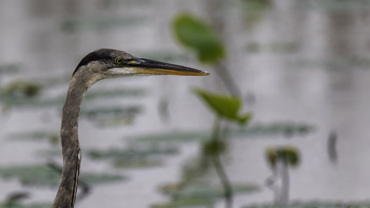
[[[78,142],[78,118],[81,103],[88,88],[106,78],[171,74],[182,76],[210,75],[206,71],[132,56],[123,51],[102,48],[87,54],[77,65],[63,106],[60,138],[63,171],[53,208],[73,208],[81,149]]]

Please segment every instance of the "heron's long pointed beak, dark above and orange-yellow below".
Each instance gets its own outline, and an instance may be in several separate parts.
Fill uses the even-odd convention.
[[[195,68],[184,67],[175,64],[164,63],[161,61],[153,61],[145,58],[135,57],[128,62],[128,66],[132,67],[139,74],[166,74],[179,76],[206,76],[211,75],[206,71],[201,71]]]

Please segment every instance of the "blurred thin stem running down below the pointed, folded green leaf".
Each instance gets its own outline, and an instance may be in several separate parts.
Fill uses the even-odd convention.
[[[220,126],[221,126],[221,119],[217,117],[215,119],[215,122],[213,123],[213,129],[212,129],[212,140],[218,141],[220,137]],[[223,167],[221,163],[221,155],[219,152],[217,154],[211,155],[211,161],[213,165],[215,166],[216,173],[221,181],[221,184],[223,186],[223,190],[225,193],[225,207],[226,208],[232,208],[232,186],[229,181],[228,176],[226,175],[225,168]]]

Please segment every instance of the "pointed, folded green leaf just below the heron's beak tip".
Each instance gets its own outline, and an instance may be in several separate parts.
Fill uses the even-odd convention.
[[[195,89],[194,92],[201,97],[217,115],[221,117],[245,124],[252,116],[250,113],[242,116],[238,114],[239,109],[242,106],[242,101],[238,97],[209,93],[208,91],[201,89]]]

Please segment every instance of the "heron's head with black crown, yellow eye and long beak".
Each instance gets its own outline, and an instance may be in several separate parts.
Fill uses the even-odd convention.
[[[84,69],[82,69],[84,68]],[[205,76],[206,71],[132,56],[123,51],[102,48],[87,54],[78,64],[79,70],[87,70],[97,80],[127,76],[180,75]]]

